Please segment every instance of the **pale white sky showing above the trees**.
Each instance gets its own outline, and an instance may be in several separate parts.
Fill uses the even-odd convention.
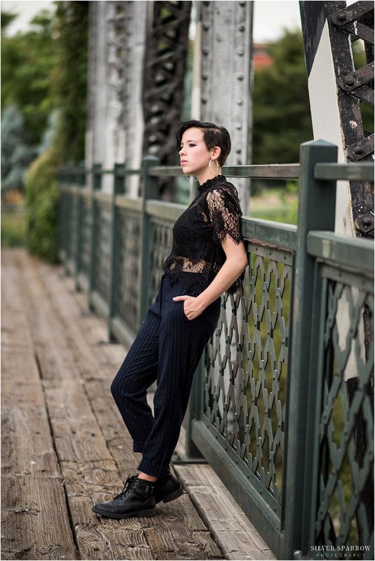
[[[52,1],[3,0],[1,9],[20,15],[8,27],[8,34],[28,29],[28,22],[43,9],[53,9]],[[284,27],[294,29],[301,27],[299,2],[296,0],[255,0],[254,29],[255,43],[273,41],[282,34]]]

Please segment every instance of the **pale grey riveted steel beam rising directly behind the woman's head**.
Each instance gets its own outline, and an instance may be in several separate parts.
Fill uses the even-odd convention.
[[[229,130],[229,165],[251,163],[253,4],[200,3],[200,119]],[[237,180],[236,187],[247,212],[250,182]]]

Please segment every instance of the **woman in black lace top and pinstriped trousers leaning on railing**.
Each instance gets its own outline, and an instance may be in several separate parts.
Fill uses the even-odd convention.
[[[142,461],[138,475],[112,501],[96,504],[95,513],[152,516],[156,503],[182,494],[169,464],[193,374],[217,326],[220,296],[236,290],[233,283],[247,266],[238,194],[221,175],[230,149],[228,131],[213,123],[187,121],[177,131],[182,170],[196,176],[198,194],[173,227],[158,296],[111,385]],[[153,416],[146,391],[155,380]]]

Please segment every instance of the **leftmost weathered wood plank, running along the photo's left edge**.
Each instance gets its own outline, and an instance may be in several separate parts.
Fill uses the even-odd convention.
[[[77,559],[29,332],[18,264],[2,259],[2,557]]]

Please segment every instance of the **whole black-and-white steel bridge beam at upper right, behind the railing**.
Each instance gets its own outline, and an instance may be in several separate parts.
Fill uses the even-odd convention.
[[[364,130],[361,103],[374,106],[374,2],[346,6],[343,1],[303,1],[300,8],[314,136],[338,144],[346,161],[372,161],[374,135]],[[351,43],[358,39],[364,41],[367,64],[356,69]],[[322,76],[327,91],[324,106],[319,101]],[[337,231],[373,236],[374,230],[362,227],[361,219],[374,208],[369,182],[348,183],[347,210],[340,203],[345,189],[338,189]]]

